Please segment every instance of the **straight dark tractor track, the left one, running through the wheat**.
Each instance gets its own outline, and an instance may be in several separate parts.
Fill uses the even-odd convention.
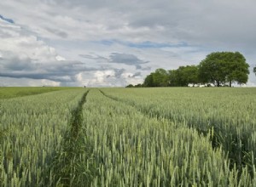
[[[90,90],[84,93],[79,105],[72,111],[72,117],[68,123],[67,133],[64,135],[62,150],[55,157],[54,171],[56,173],[55,184],[57,186],[73,186],[75,173],[78,167],[75,166],[76,160],[83,150],[79,136],[83,122],[83,106],[86,103],[86,96]]]

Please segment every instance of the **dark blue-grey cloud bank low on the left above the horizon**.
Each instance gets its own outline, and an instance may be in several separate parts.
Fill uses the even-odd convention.
[[[34,63],[32,59],[18,56],[0,59],[0,77],[48,79],[55,82],[75,82],[76,75],[82,71],[97,71],[79,61],[61,60],[51,63]]]

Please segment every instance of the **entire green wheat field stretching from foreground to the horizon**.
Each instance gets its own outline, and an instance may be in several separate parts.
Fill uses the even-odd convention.
[[[0,186],[256,186],[256,88],[0,88]]]

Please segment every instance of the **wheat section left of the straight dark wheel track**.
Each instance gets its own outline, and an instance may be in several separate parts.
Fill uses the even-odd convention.
[[[55,186],[55,156],[85,91],[68,89],[0,100],[1,187]]]

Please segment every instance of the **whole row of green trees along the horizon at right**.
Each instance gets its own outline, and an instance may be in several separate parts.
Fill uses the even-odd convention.
[[[256,74],[256,67],[253,68]],[[157,69],[143,84],[127,87],[187,87],[189,84],[208,84],[216,87],[247,83],[249,65],[239,52],[214,52],[199,65],[179,66],[177,70]]]

